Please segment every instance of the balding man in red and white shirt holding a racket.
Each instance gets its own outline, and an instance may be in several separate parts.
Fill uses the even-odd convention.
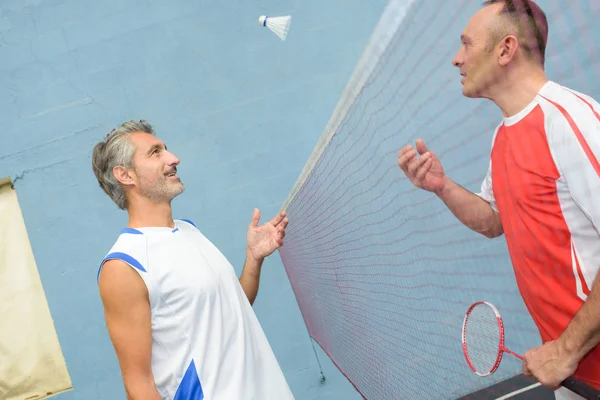
[[[467,227],[505,235],[544,343],[524,355],[523,372],[576,399],[559,389],[571,375],[600,389],[600,104],[546,78],[547,37],[544,12],[527,0],[485,2],[461,35],[452,63],[463,95],[503,114],[480,193],[446,176],[422,140],[398,165]]]

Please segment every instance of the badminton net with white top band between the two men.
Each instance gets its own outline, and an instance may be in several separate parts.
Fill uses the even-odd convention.
[[[595,0],[539,0],[550,79],[600,98]],[[480,2],[392,0],[283,208],[280,255],[311,337],[367,399],[455,399],[505,380],[473,374],[460,345],[468,306],[498,305],[515,352],[541,344],[503,237],[458,222],[397,165],[417,138],[479,191],[500,114],[466,99],[451,60]]]

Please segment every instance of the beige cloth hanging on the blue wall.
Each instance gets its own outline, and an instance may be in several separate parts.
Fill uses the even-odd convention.
[[[72,388],[17,193],[0,180],[0,399],[43,399]]]

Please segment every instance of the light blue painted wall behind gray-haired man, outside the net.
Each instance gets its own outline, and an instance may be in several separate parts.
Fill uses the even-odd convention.
[[[253,207],[271,218],[292,188],[383,10],[384,0],[3,0],[0,177],[11,176],[74,390],[125,398],[96,287],[126,223],[90,167],[94,143],[148,119],[182,160],[176,217],[241,271]],[[258,25],[293,16],[286,42]],[[358,398],[319,371],[279,256],[255,310],[300,399]]]

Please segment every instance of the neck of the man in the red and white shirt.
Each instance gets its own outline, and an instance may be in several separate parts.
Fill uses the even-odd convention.
[[[491,98],[504,117],[512,117],[527,107],[548,82],[543,70],[512,71],[512,75],[507,77],[498,93]]]

